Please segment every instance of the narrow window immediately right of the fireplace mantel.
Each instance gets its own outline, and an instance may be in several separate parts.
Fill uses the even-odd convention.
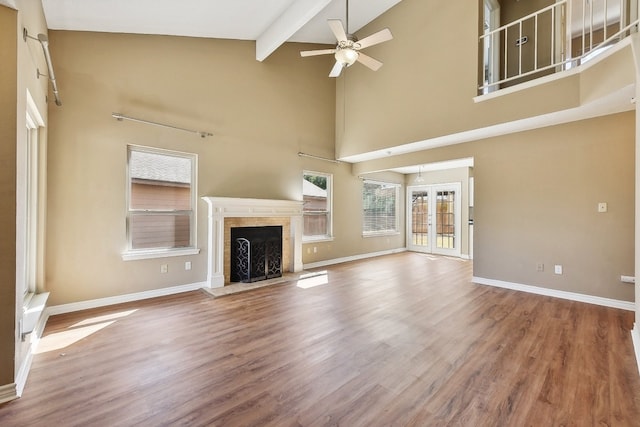
[[[331,189],[331,174],[303,173],[304,240],[331,239]]]

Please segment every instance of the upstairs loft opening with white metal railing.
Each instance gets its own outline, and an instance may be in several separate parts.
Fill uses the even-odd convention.
[[[638,29],[638,0],[562,0],[480,36],[479,93],[580,65]]]

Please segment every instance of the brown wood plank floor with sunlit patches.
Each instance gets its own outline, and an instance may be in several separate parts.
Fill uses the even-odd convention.
[[[54,316],[0,425],[640,425],[632,312],[470,280],[402,253]]]

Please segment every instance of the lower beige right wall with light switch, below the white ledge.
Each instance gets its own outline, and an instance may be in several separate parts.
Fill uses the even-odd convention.
[[[474,158],[475,276],[633,301],[620,275],[634,274],[634,120],[620,113],[394,162]],[[607,213],[597,213],[599,202]]]

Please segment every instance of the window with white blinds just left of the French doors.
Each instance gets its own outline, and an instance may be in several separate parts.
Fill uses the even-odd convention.
[[[362,184],[362,234],[398,233],[399,184],[365,180]]]

